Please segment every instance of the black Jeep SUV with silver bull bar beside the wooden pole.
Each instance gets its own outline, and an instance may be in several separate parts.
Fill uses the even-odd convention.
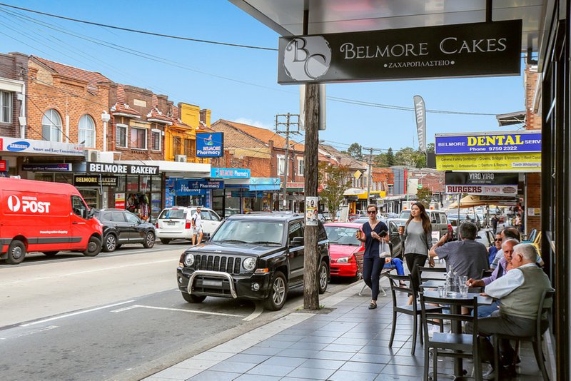
[[[263,300],[279,310],[288,290],[303,286],[303,215],[266,213],[231,215],[207,243],[189,248],[176,269],[184,300],[207,296]],[[318,289],[329,280],[329,241],[318,226]]]

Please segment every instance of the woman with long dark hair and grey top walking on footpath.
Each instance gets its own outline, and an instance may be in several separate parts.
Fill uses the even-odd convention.
[[[428,259],[428,250],[432,247],[432,225],[423,203],[413,203],[410,208],[410,217],[404,226],[399,226],[400,240],[405,245],[404,253],[406,265],[410,271],[413,289],[418,291],[417,265],[424,266]],[[408,304],[413,303],[417,295],[411,295]]]

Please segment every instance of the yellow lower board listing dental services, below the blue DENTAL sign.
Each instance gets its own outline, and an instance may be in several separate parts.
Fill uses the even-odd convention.
[[[541,153],[468,153],[436,156],[438,171],[541,172]]]

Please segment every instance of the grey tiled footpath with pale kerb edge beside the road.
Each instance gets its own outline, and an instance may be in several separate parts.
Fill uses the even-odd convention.
[[[376,310],[368,310],[370,300],[357,295],[360,288],[354,285],[322,300],[333,308],[330,313],[291,313],[146,380],[422,380],[420,343],[410,354],[412,318],[398,316],[389,348],[390,292],[379,295]],[[530,347],[524,346],[521,356],[519,375],[512,380],[541,380]],[[471,371],[471,362],[465,360],[464,367]],[[439,378],[452,379],[452,368],[451,360],[439,361]]]

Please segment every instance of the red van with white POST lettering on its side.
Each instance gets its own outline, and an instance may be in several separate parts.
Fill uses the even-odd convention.
[[[103,228],[93,215],[70,184],[0,178],[0,259],[17,265],[31,251],[97,255]]]

